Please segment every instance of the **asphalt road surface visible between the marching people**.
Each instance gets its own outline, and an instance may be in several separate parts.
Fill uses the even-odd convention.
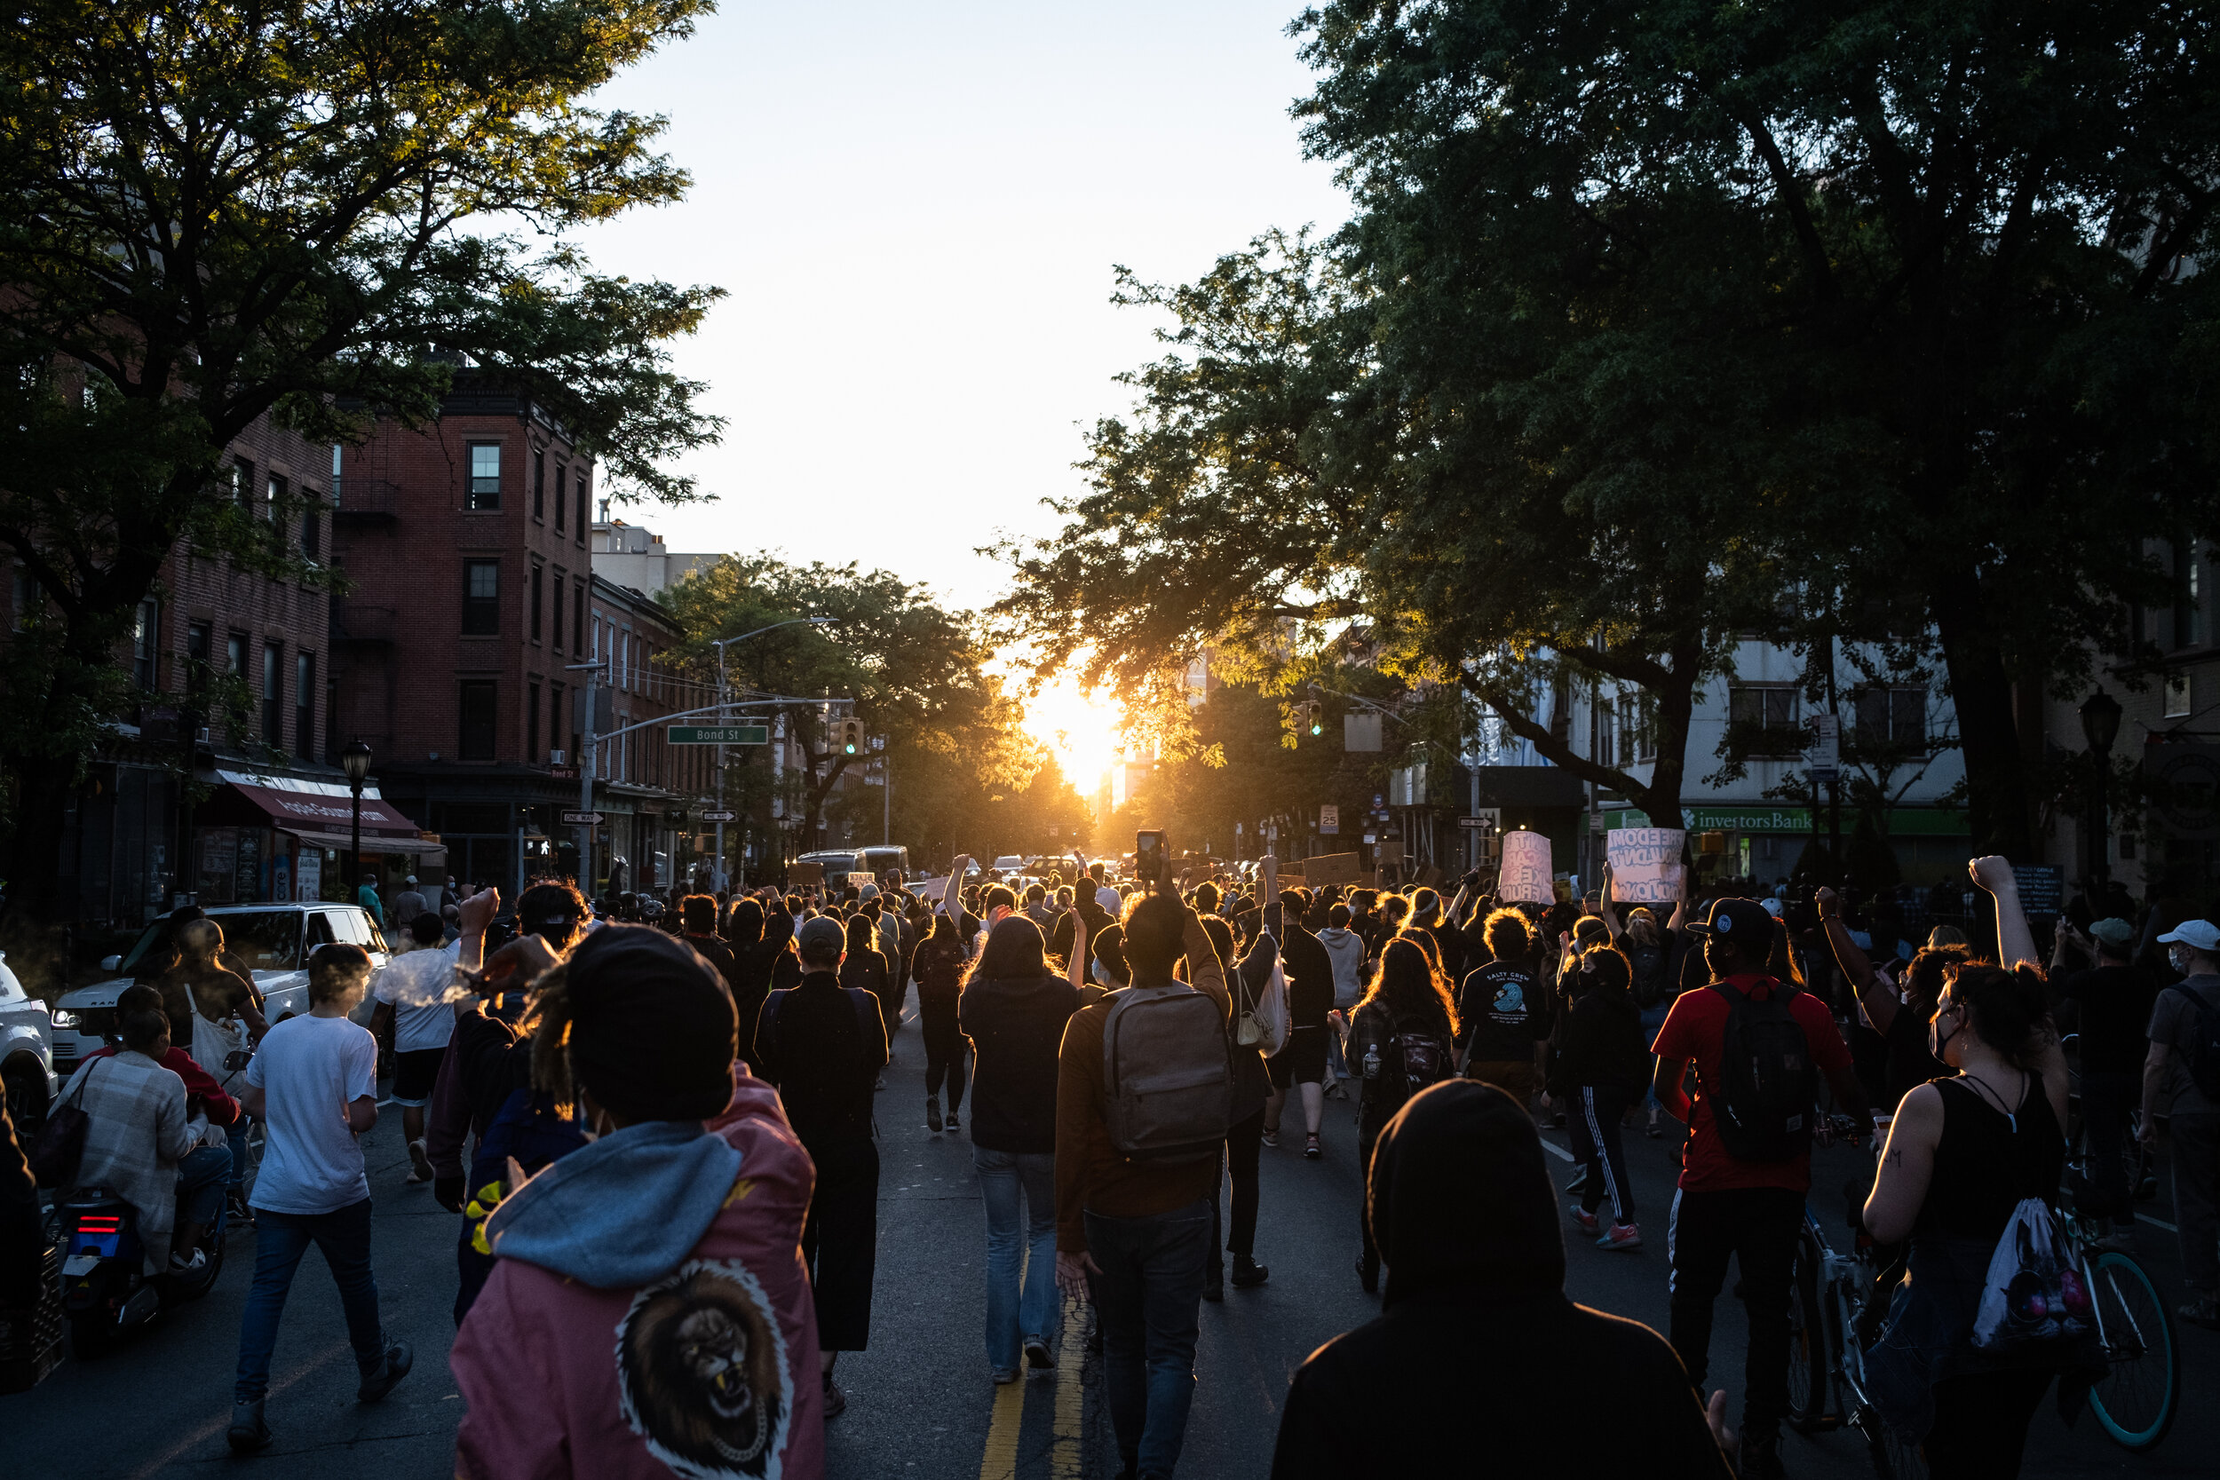
[[[879,1096],[879,1271],[870,1351],[848,1354],[839,1380],[848,1411],[830,1427],[837,1480],[1103,1480],[1114,1473],[1108,1425],[1077,1325],[1061,1365],[997,1389],[981,1342],[983,1218],[970,1143],[924,1129],[924,1052],[915,1023],[895,1043],[888,1092]],[[1563,1132],[1545,1132],[1563,1149]],[[1332,1336],[1376,1314],[1356,1287],[1359,1167],[1350,1107],[1328,1101],[1325,1158],[1305,1163],[1299,1136],[1263,1154],[1259,1258],[1270,1285],[1225,1291],[1203,1305],[1199,1385],[1181,1473],[1261,1480],[1288,1378]],[[1605,1254],[1570,1240],[1570,1294],[1585,1305],[1665,1327],[1665,1212],[1672,1200],[1672,1141],[1629,1141],[1638,1220],[1647,1247]],[[462,1400],[446,1369],[453,1338],[455,1220],[428,1187],[406,1187],[400,1116],[366,1138],[375,1198],[377,1287],[389,1331],[415,1342],[417,1365],[386,1402],[353,1402],[353,1360],[337,1294],[311,1256],[278,1340],[273,1449],[231,1460],[231,1371],[240,1302],[253,1265],[253,1231],[235,1231],[215,1291],[167,1314],[113,1356],[64,1362],[31,1393],[0,1398],[0,1476],[9,1480],[147,1480],[206,1476],[211,1467],[284,1480],[435,1480],[453,1473]],[[1838,1189],[1856,1152],[1825,1152],[1814,1207],[1840,1234]],[[1570,1158],[1554,1163],[1570,1176]],[[2171,1198],[2145,1205],[2171,1218]],[[2138,1256],[2169,1300],[2180,1298],[2171,1231],[2138,1231]],[[1743,1320],[1723,1296],[1712,1382],[1740,1409]],[[1516,1338],[1516,1334],[1507,1334]],[[2182,1327],[2184,1402],[2169,1440],[2151,1456],[2109,1444],[2093,1420],[2067,1429],[2051,1407],[2036,1418],[2027,1476],[2209,1476],[2220,1453],[2220,1413],[2209,1396],[2220,1378],[2220,1336]],[[1598,1416],[1603,1416],[1598,1411]],[[1798,1480],[1869,1476],[1854,1433],[1789,1436],[1787,1469]]]

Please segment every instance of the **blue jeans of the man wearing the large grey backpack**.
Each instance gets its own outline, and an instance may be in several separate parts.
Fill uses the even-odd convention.
[[[1088,1212],[1094,1318],[1103,1334],[1103,1389],[1119,1460],[1139,1476],[1170,1476],[1194,1405],[1194,1340],[1210,1256],[1210,1203],[1148,1218]]]

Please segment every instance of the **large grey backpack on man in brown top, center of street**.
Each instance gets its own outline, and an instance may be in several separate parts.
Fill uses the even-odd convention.
[[[1225,1018],[1203,992],[1126,987],[1103,1023],[1103,1125],[1128,1160],[1212,1160],[1234,1123]]]

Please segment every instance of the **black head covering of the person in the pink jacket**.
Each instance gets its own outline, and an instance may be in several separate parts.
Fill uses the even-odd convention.
[[[628,1121],[708,1121],[733,1101],[739,1018],[708,961],[653,925],[602,925],[571,952],[571,1074]]]

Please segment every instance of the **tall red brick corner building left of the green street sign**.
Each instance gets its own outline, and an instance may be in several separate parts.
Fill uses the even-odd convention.
[[[666,652],[677,630],[644,595],[591,572],[595,468],[544,406],[464,371],[422,430],[380,422],[344,453],[333,557],[333,734],[371,746],[386,797],[446,845],[448,872],[511,894],[542,872],[575,874],[579,703],[604,663],[615,719],[675,708]],[[604,748],[597,874],[628,883],[675,868],[673,825],[708,770],[662,734]],[[606,788],[602,781],[606,779]]]

